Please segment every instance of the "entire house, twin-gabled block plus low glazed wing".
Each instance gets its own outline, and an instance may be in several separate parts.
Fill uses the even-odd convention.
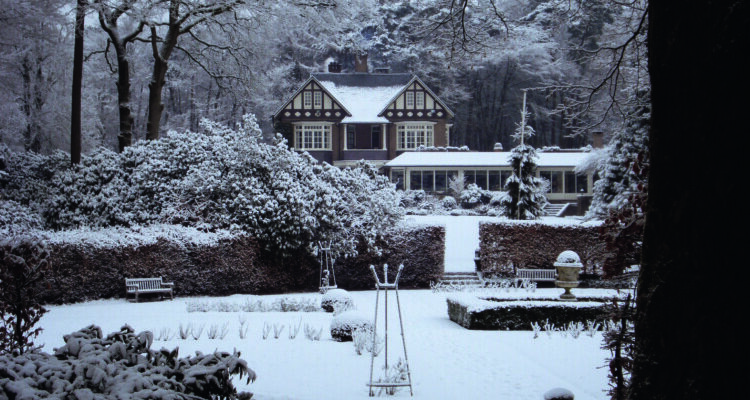
[[[367,160],[382,167],[400,189],[444,194],[458,177],[501,190],[511,173],[508,152],[417,151],[449,145],[453,112],[415,75],[368,71],[365,55],[354,73],[331,63],[328,73],[311,75],[274,113],[277,131],[319,161],[346,167]],[[550,182],[551,202],[591,196],[592,177],[574,171],[586,156],[539,153],[536,173]]]

